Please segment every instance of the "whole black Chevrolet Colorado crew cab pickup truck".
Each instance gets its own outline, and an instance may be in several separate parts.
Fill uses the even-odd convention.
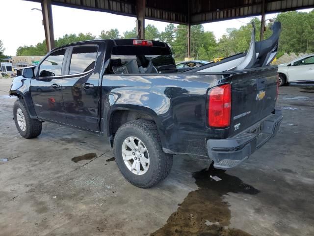
[[[167,177],[173,154],[204,156],[226,170],[279,128],[277,66],[268,65],[277,46],[278,38],[255,42],[253,30],[247,53],[185,72],[158,41],[62,46],[13,80],[15,124],[26,139],[44,121],[100,134],[123,176],[141,188]]]

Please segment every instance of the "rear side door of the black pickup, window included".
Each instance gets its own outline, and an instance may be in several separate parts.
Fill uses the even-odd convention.
[[[62,93],[67,123],[96,131],[104,43],[70,48]]]

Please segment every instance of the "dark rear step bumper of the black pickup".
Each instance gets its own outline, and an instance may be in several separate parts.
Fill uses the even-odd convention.
[[[274,137],[283,119],[281,111],[276,111],[254,124],[244,132],[228,139],[209,139],[207,149],[209,158],[217,169],[230,169],[245,161],[270,138]],[[261,128],[259,134],[250,133],[255,127]]]

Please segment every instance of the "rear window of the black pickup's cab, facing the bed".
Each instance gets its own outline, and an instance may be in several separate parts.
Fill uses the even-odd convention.
[[[130,42],[119,40],[119,45],[113,47],[106,74],[177,72],[171,50],[164,43],[153,41],[153,46],[139,46]]]

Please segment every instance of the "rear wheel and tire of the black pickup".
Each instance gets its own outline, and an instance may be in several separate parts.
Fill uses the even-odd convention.
[[[162,151],[153,121],[138,119],[121,125],[114,137],[113,152],[122,175],[140,188],[156,185],[172,167],[173,156]]]

